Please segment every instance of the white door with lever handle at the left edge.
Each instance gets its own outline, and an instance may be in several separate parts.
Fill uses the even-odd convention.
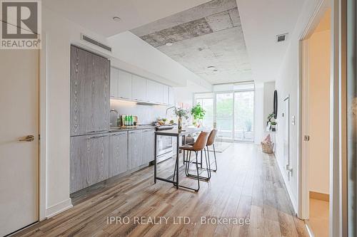
[[[0,236],[38,221],[38,170],[39,51],[0,49]]]

